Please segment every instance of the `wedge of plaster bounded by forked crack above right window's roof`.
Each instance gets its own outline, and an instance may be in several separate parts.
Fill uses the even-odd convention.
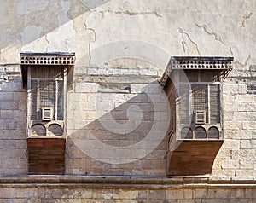
[[[189,34],[187,32],[183,32],[183,29],[180,27],[178,27],[178,32],[181,33],[183,38],[182,46],[183,46],[184,53],[189,55],[201,55],[198,49],[198,45],[194,41],[192,41]],[[186,50],[186,47],[187,47],[187,50]]]

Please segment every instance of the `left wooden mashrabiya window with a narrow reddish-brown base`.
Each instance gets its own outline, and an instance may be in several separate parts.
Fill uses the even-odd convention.
[[[30,174],[64,174],[66,95],[74,53],[21,52],[27,89],[27,152]]]

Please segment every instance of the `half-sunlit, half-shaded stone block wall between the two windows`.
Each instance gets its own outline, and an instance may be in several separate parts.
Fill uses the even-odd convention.
[[[165,176],[166,131],[162,126],[153,129],[155,114],[156,122],[165,123],[168,105],[160,100],[160,73],[147,61],[129,58],[123,58],[120,67],[108,64],[79,72],[68,93],[67,174]],[[158,140],[161,131],[164,137]],[[150,142],[159,144],[145,154],[148,142],[143,141],[149,133],[156,136]],[[106,146],[86,145],[94,142],[90,135]],[[136,146],[137,142],[141,144]]]

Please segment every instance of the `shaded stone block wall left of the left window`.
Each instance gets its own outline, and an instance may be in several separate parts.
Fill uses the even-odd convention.
[[[5,67],[3,67],[5,70]],[[18,73],[0,79],[0,174],[27,174],[26,90]]]

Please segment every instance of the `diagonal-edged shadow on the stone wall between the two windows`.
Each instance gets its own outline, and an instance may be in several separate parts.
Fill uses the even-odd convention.
[[[67,138],[66,173],[166,176],[169,107],[162,96],[142,92],[108,113],[111,102],[99,102],[102,116]],[[81,118],[84,111],[81,105]]]

